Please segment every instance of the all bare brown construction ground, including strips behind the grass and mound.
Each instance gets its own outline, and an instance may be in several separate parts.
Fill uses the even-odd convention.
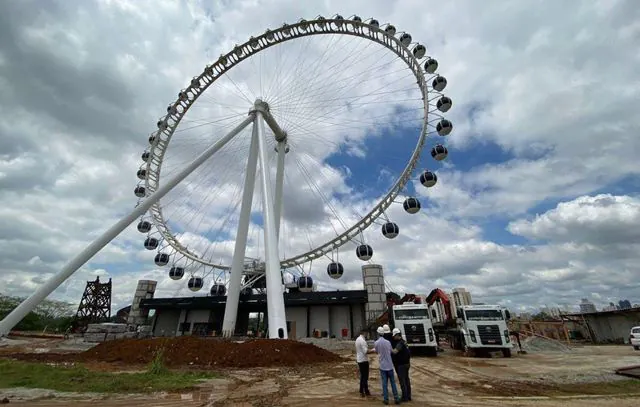
[[[329,363],[303,363],[297,366],[289,363],[290,366],[242,369],[210,366],[208,369],[216,369],[220,373],[219,378],[204,381],[195,389],[176,394],[102,395],[18,388],[0,389],[0,401],[6,399],[10,404],[40,407],[70,405],[70,399],[73,399],[75,406],[80,407],[350,407],[381,404],[375,355],[371,356],[369,381],[373,397],[363,399],[358,393],[353,342],[335,339],[309,339],[306,342],[331,350],[342,356],[342,359]],[[44,338],[5,340],[0,345],[0,357],[13,358],[19,355],[20,359],[43,363],[60,359],[60,355],[51,353],[66,353],[69,357],[75,357],[74,354],[80,354],[79,352],[91,347],[82,343],[81,339]],[[411,361],[413,401],[410,404],[635,407],[639,403],[640,380],[614,373],[624,366],[640,365],[640,352],[634,351],[631,346],[567,348],[559,343],[535,339],[527,343],[525,349],[528,351],[526,355],[514,352],[510,359],[503,358],[500,354],[495,354],[492,358],[472,358],[449,349],[439,353],[436,358],[415,355]],[[314,354],[321,355],[318,352]],[[140,363],[85,359],[82,363],[89,369],[117,371],[122,372],[121,374],[145,369]],[[195,363],[197,364],[198,362]],[[196,367],[193,363],[187,363],[182,368]]]

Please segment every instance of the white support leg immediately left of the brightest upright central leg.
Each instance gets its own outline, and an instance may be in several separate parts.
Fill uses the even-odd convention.
[[[242,273],[244,272],[244,258],[247,251],[247,237],[249,223],[251,222],[251,208],[253,204],[253,190],[256,184],[256,169],[258,167],[258,127],[253,121],[251,135],[251,147],[249,147],[249,159],[247,160],[247,173],[244,178],[242,191],[242,204],[240,206],[240,219],[238,220],[238,233],[236,234],[233,260],[231,261],[231,275],[227,300],[224,307],[222,320],[222,335],[226,338],[233,336],[238,318],[238,302],[240,301],[240,288],[242,285]]]

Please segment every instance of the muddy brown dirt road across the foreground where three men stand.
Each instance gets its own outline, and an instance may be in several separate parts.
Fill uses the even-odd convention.
[[[365,406],[380,403],[377,362],[371,358],[374,397],[360,398],[350,351],[344,361],[302,368],[258,368],[227,371],[225,379],[203,383],[199,391],[164,397],[90,402],[79,407],[158,406]],[[412,405],[626,407],[637,406],[640,380],[613,374],[616,368],[640,364],[640,352],[628,346],[588,346],[570,352],[538,352],[511,359],[463,357],[451,351],[437,358],[412,358]],[[2,398],[0,389],[0,399]],[[637,395],[634,395],[637,394]],[[16,400],[17,401],[17,400]],[[12,404],[14,402],[12,401]],[[62,406],[67,400],[42,400],[21,406]],[[18,404],[18,403],[15,403]]]

